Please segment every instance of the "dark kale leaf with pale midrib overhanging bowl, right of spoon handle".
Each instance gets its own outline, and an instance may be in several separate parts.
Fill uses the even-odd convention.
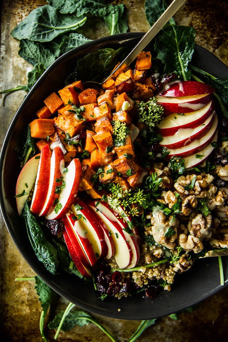
[[[188,63],[196,45],[193,27],[166,24],[155,40],[155,51],[165,64],[164,74],[175,74],[182,80],[190,80]]]

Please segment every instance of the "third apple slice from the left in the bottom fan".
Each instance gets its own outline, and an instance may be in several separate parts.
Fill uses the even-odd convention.
[[[96,257],[106,257],[108,246],[105,242],[105,234],[93,212],[79,198],[77,198],[76,204],[71,206],[71,210],[76,216],[82,215],[83,221],[81,221],[81,225],[84,226],[84,230],[87,232],[86,236]]]

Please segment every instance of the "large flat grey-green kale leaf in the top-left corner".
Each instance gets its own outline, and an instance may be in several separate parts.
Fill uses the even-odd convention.
[[[68,31],[84,25],[86,17],[61,14],[52,6],[44,5],[31,11],[11,32],[11,36],[39,42],[48,42]]]

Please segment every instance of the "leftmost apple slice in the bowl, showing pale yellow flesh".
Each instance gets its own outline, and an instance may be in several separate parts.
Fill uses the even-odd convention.
[[[23,190],[27,193],[27,195],[16,197],[17,211],[19,215],[21,215],[32,186],[36,181],[39,161],[40,153],[27,161],[17,178],[16,196],[22,194]]]

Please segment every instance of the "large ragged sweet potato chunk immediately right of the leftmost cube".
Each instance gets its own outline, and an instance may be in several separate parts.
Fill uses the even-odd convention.
[[[84,119],[78,119],[77,114],[70,110],[73,110],[71,105],[66,105],[58,110],[59,115],[55,121],[55,126],[72,137],[81,131]]]

